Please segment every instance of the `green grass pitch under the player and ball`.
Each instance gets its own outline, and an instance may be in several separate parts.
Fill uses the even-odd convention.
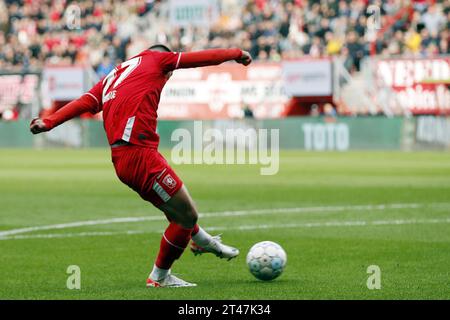
[[[274,176],[257,165],[174,168],[209,213],[199,222],[241,256],[187,251],[173,272],[198,287],[146,289],[166,222],[119,182],[109,150],[0,150],[0,299],[450,298],[450,153],[284,151]],[[130,217],[155,218],[111,220]],[[272,282],[245,264],[262,240],[288,255]],[[81,290],[66,288],[69,265]],[[370,265],[380,290],[366,286]]]

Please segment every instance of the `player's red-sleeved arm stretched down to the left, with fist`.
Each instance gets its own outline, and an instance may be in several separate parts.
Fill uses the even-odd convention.
[[[41,118],[35,118],[30,123],[30,131],[33,134],[46,132],[60,124],[78,117],[86,112],[98,112],[99,102],[92,94],[84,94],[80,98],[73,100],[55,113]]]

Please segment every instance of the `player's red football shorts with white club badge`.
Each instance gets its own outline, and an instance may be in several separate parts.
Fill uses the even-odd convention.
[[[120,181],[155,207],[169,201],[183,186],[181,179],[156,149],[121,146],[112,148],[111,153]]]

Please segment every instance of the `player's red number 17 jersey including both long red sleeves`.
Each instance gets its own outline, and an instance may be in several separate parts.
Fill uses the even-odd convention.
[[[177,68],[196,68],[239,61],[238,48],[208,49],[174,53],[145,50],[120,64],[89,92],[73,100],[55,113],[43,118],[47,130],[85,112],[103,110],[103,121],[110,144],[125,140],[134,145],[157,148],[157,110],[167,73]]]

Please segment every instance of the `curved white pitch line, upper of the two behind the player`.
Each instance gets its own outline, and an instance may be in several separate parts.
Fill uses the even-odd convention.
[[[324,207],[297,207],[297,208],[267,208],[254,210],[238,210],[238,211],[220,211],[199,214],[200,218],[213,217],[235,217],[235,216],[252,216],[252,215],[268,215],[276,213],[311,213],[311,212],[342,212],[342,211],[374,211],[374,210],[390,210],[390,209],[416,209],[421,204],[417,203],[394,203],[380,205],[347,205],[347,206],[324,206]],[[58,230],[77,228],[84,226],[95,226],[114,223],[131,223],[141,221],[163,221],[166,220],[164,215],[146,216],[146,217],[124,217],[102,220],[76,221],[69,223],[52,224],[46,226],[26,227],[19,229],[11,229],[0,231],[0,237],[11,236],[15,234],[30,233],[35,231]]]

